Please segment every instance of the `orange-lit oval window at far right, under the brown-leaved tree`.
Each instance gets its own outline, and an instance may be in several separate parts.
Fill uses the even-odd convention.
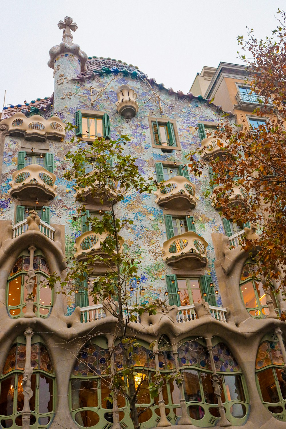
[[[255,264],[251,261],[244,265],[240,280],[241,297],[249,314],[255,319],[263,319],[269,314],[269,309],[266,304],[265,291],[261,281],[255,277],[255,271]],[[271,288],[270,295],[274,308],[278,312],[279,305],[274,293],[274,287]]]

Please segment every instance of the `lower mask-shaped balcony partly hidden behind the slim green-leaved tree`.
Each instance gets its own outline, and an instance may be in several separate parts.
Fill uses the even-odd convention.
[[[106,239],[107,236],[107,233],[97,234],[92,231],[86,231],[85,233],[81,234],[81,236],[77,237],[75,239],[75,244],[73,247],[75,248],[74,256],[78,260],[78,262],[85,262],[94,255],[99,255],[100,257],[108,261],[110,257],[102,250],[102,242]],[[124,240],[120,240],[120,251],[122,249],[123,243]],[[93,267],[102,265],[102,261],[92,262]],[[108,262],[107,265],[109,265]]]

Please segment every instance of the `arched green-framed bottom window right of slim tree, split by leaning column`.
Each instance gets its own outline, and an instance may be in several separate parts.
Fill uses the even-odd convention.
[[[226,417],[234,426],[243,425],[247,420],[248,404],[242,372],[225,344],[215,345],[213,354],[221,378],[221,398]],[[210,423],[215,425],[220,414],[207,347],[199,341],[186,341],[178,349],[178,360],[187,410],[193,423],[200,427],[210,426]],[[179,404],[178,387],[173,391],[172,400],[174,404]],[[181,408],[175,412],[180,416]]]

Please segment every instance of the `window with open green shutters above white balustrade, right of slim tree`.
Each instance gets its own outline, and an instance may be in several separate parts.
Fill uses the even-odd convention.
[[[192,305],[195,300],[202,302],[202,299],[205,299],[209,305],[217,306],[213,281],[210,275],[189,277],[172,274],[166,276],[166,282],[170,305],[181,307]],[[196,298],[194,299],[194,297]]]

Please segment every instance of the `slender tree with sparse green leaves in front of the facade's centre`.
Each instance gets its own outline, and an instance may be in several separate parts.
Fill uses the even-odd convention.
[[[74,132],[75,127],[68,124],[67,130]],[[121,136],[118,140],[97,138],[91,145],[81,143],[80,139],[72,137],[71,142],[78,142],[79,149],[66,154],[72,167],[64,173],[69,181],[74,181],[74,188],[81,195],[82,205],[78,208],[78,216],[84,216],[84,224],[88,226],[88,234],[84,248],[90,247],[84,258],[73,258],[69,263],[69,270],[62,286],[74,284],[75,292],[85,287],[96,302],[102,304],[106,315],[111,315],[116,321],[116,330],[113,332],[123,350],[123,366],[117,371],[112,364],[105,374],[110,383],[108,401],[112,404],[114,398],[123,396],[129,402],[130,417],[134,429],[139,429],[139,416],[155,404],[148,407],[136,407],[136,403],[143,403],[143,388],[146,389],[147,369],[140,373],[135,372],[132,365],[132,352],[139,347],[136,339],[134,324],[137,317],[144,312],[156,314],[157,305],[153,302],[131,305],[132,290],[138,279],[138,251],[124,245],[122,231],[133,222],[127,216],[123,219],[117,216],[117,203],[132,193],[151,193],[151,182],[147,183],[136,165],[136,158],[124,151],[124,145],[130,139]],[[149,177],[149,181],[153,177]],[[98,202],[99,216],[87,216],[84,206],[84,191]],[[75,217],[75,220],[77,218]],[[93,250],[93,245],[97,250]],[[50,284],[58,280],[50,278]],[[83,286],[84,285],[84,286]],[[154,347],[151,344],[150,349]],[[157,344],[158,349],[158,344]],[[146,363],[148,365],[148,362]],[[124,381],[127,379],[127,384]],[[155,374],[148,389],[153,401],[163,387],[163,378],[159,372]],[[166,382],[166,381],[165,381]],[[143,395],[144,397],[144,395]],[[118,413],[113,414],[115,427],[120,428]],[[116,417],[117,416],[117,417]],[[117,424],[117,426],[116,426]]]

